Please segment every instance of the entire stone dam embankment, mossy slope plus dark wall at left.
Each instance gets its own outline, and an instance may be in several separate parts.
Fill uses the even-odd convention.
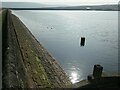
[[[70,88],[57,61],[9,10],[2,32],[3,88]]]

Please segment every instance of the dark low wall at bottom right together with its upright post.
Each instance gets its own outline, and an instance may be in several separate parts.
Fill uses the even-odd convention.
[[[120,75],[105,75],[102,74],[103,67],[101,65],[94,65],[93,74],[88,76],[87,80],[80,81],[78,83],[73,84],[72,87],[74,89],[110,89],[110,90],[118,90],[119,88],[119,80]]]

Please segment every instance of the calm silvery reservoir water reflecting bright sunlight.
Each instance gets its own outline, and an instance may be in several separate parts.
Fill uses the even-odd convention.
[[[117,11],[13,11],[65,70],[72,83],[100,64],[118,74]],[[80,45],[85,37],[85,45]]]

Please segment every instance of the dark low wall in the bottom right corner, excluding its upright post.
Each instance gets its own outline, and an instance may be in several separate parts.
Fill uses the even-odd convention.
[[[95,90],[119,90],[120,76],[103,76],[93,78],[91,81],[84,80],[74,84],[74,90],[95,89]]]

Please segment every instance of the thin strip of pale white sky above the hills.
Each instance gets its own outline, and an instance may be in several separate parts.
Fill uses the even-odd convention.
[[[45,4],[112,4],[118,3],[119,0],[2,0],[2,2],[38,2]]]

